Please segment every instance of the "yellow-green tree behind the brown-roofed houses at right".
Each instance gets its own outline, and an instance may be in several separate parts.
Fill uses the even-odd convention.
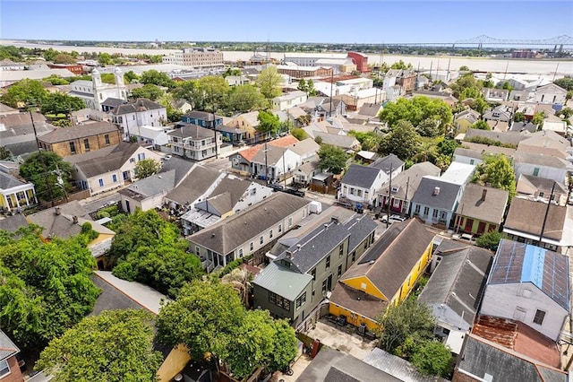
[[[509,191],[509,200],[516,195],[516,175],[503,154],[484,154],[483,162],[475,166],[472,182]]]

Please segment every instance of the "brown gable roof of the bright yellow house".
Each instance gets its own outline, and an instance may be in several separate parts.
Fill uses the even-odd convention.
[[[433,237],[434,234],[417,219],[395,222],[342,275],[340,281],[367,277],[387,299],[392,299],[423,252],[432,244]]]

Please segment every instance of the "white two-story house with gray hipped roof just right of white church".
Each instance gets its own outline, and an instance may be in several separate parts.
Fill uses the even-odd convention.
[[[144,98],[124,103],[109,114],[117,126],[125,131],[133,131],[136,126],[163,126],[167,123],[167,109],[165,106]]]

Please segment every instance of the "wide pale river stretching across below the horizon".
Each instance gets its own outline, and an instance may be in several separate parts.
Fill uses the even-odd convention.
[[[0,45],[13,45],[15,47],[25,48],[54,48],[56,50],[71,52],[105,52],[109,54],[123,55],[169,55],[175,53],[176,49],[159,49],[159,48],[99,48],[99,47],[81,47],[81,46],[64,46],[64,45],[47,45],[47,44],[30,44],[27,42],[14,40],[0,40]],[[270,52],[271,57],[283,59],[285,53]],[[342,58],[344,53],[288,53],[287,55],[296,56],[320,56],[323,58]],[[225,61],[248,60],[252,52],[223,51]],[[522,73],[522,74],[557,74],[573,75],[573,60],[553,60],[553,59],[507,59],[492,57],[467,57],[467,56],[406,56],[406,55],[368,55],[369,64],[377,64],[383,60],[385,63],[392,65],[399,60],[406,64],[410,63],[414,68],[424,70],[457,70],[460,66],[466,65],[472,70],[492,72],[492,73]]]

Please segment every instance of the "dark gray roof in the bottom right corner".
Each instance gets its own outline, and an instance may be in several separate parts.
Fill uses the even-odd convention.
[[[478,378],[485,374],[503,382],[567,382],[566,372],[509,350],[497,343],[468,334],[458,357],[458,369]]]

